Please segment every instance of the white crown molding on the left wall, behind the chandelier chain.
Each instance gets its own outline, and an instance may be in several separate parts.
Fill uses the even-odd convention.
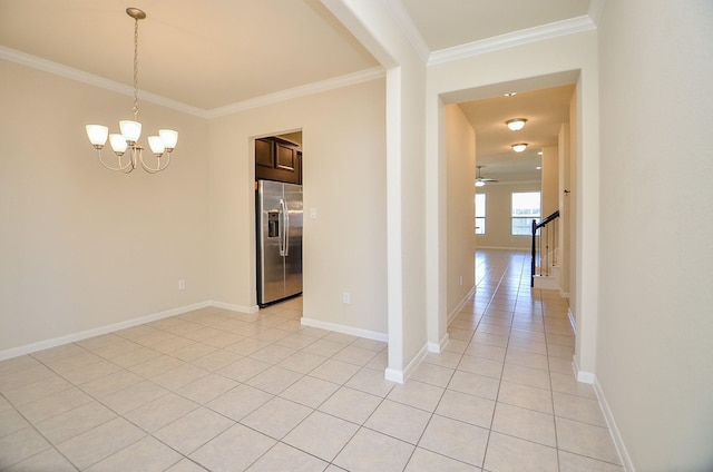
[[[94,73],[85,72],[84,70],[75,69],[58,62],[38,58],[37,56],[31,56],[26,52],[6,48],[4,46],[0,46],[0,59],[16,62],[21,66],[31,67],[43,72],[53,73],[66,79],[88,83],[90,86],[114,91],[116,94],[127,95],[129,97],[134,96],[134,88],[125,83],[116,82],[114,80],[105,79],[104,77],[95,76]],[[197,107],[192,107],[191,105],[182,104],[180,101],[172,100],[170,98],[162,97],[159,95],[147,92],[140,89],[139,97],[141,100],[148,101],[150,104],[160,105],[162,107],[172,108],[174,110],[183,111],[184,114],[206,118],[205,110]]]

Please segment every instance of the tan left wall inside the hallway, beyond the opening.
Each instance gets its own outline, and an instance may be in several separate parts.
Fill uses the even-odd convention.
[[[476,285],[473,212],[476,132],[458,105],[446,107],[448,134],[448,313]]]

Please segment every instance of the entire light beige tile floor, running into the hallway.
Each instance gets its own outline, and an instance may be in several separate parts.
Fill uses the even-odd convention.
[[[451,341],[403,385],[301,299],[198,309],[0,363],[2,471],[622,471],[567,303],[479,252]]]

